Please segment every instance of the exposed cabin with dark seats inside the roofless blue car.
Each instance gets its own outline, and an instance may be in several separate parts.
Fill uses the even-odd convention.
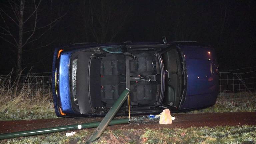
[[[166,99],[165,105],[173,108],[175,104],[179,104],[180,99],[176,100],[174,96],[177,80],[168,83],[174,86],[167,89],[172,96],[169,97],[169,93],[164,96],[165,73],[163,62],[160,63],[163,61],[160,50],[148,48],[128,50],[127,47],[120,47],[122,50],[120,53],[113,51],[118,48],[93,48],[72,54],[71,95],[76,112],[81,114],[106,112],[126,88],[130,90],[132,113],[158,111],[162,109],[163,99]],[[166,62],[174,63],[173,66],[177,68],[177,58],[174,55],[165,52],[163,56]],[[177,70],[173,72],[177,77],[176,73]],[[170,79],[175,78],[169,77],[168,80],[171,81]],[[126,102],[121,113],[126,113],[127,107]]]

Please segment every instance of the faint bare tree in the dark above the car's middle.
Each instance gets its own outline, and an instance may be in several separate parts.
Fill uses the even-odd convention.
[[[123,29],[129,15],[129,7],[124,0],[83,1],[84,25],[96,42],[111,42]]]

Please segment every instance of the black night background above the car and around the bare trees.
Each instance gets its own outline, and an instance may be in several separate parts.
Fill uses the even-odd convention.
[[[194,40],[214,47],[220,70],[256,65],[256,1],[117,2],[103,4],[106,9],[102,11],[102,5],[97,0],[92,2],[92,6],[88,1],[84,3],[79,0],[43,1],[38,14],[39,26],[44,26],[65,13],[66,15],[52,29],[39,30],[35,37],[47,31],[39,40],[24,46],[22,67],[25,71],[33,66],[32,72],[50,72],[53,50],[62,45],[99,41],[162,42],[163,35],[168,41]],[[26,3],[28,7],[30,5]],[[2,2],[0,7],[11,13],[8,3]],[[26,11],[25,17],[29,12]],[[93,25],[90,25],[88,20],[90,12],[94,14]],[[109,17],[110,21],[105,38],[97,40],[93,36],[92,26],[98,36],[102,29],[107,29],[102,28],[97,21],[97,18],[100,18],[97,15],[102,13],[105,18]],[[8,21],[7,18],[5,20]],[[2,19],[0,25],[4,27]],[[28,22],[26,27],[31,25],[33,21]],[[17,35],[15,25],[10,22],[9,27]],[[111,40],[116,32],[118,33]],[[2,39],[0,43],[0,73],[6,74],[12,68],[15,69],[16,50]],[[40,48],[49,43],[49,46]]]

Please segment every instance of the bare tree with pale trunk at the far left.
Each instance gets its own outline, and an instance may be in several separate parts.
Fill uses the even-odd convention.
[[[38,11],[40,10],[41,2],[42,0],[34,0],[32,7],[26,7],[25,5],[29,4],[26,0],[8,0],[6,8],[0,8],[0,16],[3,20],[3,26],[0,26],[0,38],[17,50],[17,73],[22,70],[22,51],[24,46],[40,39],[65,15],[54,19],[48,24],[39,26]],[[39,30],[43,31],[36,35],[35,33]]]

